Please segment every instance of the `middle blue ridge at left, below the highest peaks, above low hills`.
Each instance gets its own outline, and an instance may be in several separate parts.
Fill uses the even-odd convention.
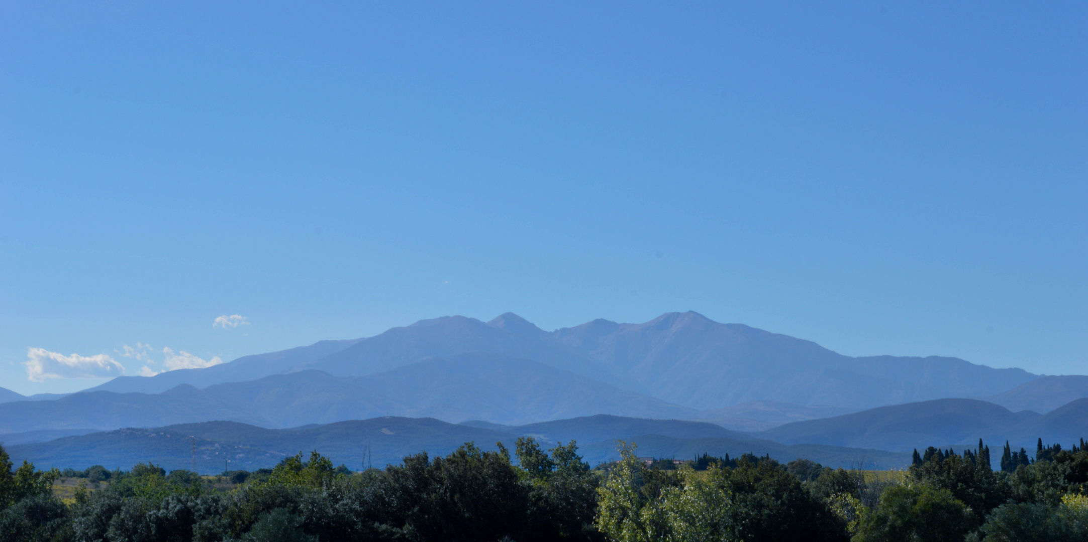
[[[57,401],[4,403],[0,433],[215,419],[294,427],[385,415],[511,424],[598,413],[660,418],[695,414],[541,363],[469,353],[366,377],[337,378],[309,369],[202,390],[181,385],[158,394],[97,391]]]

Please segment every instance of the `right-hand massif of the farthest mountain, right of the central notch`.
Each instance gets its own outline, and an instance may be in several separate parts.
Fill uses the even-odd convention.
[[[645,324],[594,320],[553,333],[636,389],[694,408],[747,401],[868,407],[997,393],[1035,378],[948,357],[849,357],[815,342],[697,313]]]

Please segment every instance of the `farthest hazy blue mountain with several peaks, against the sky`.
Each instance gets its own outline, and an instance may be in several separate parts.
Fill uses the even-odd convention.
[[[701,411],[753,401],[858,409],[994,395],[1036,378],[954,357],[850,357],[692,312],[644,324],[598,319],[551,332],[507,313],[489,323],[462,316],[421,320],[368,339],[322,341],[150,378],[122,377],[95,390],[158,393],[180,383],[206,388],[305,368],[357,377],[468,352],[531,360]]]

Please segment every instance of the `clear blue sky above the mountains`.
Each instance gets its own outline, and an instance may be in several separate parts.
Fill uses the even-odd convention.
[[[3,2],[0,386],[506,311],[1086,374],[1088,5],[948,4]]]

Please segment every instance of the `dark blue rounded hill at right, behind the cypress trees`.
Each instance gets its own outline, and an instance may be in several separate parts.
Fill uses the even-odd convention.
[[[786,444],[815,443],[908,452],[928,445],[970,443],[973,436],[979,431],[1009,428],[1021,424],[1027,416],[1031,414],[1014,414],[985,401],[940,399],[796,421],[756,434]]]

